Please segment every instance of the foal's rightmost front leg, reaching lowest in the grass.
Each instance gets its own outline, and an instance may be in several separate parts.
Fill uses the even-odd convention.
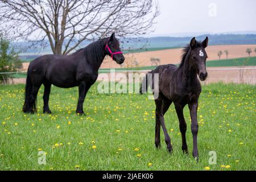
[[[197,149],[197,133],[198,133],[198,123],[197,123],[197,106],[198,99],[188,104],[190,116],[191,116],[191,131],[193,135],[193,157],[199,160],[198,149]]]

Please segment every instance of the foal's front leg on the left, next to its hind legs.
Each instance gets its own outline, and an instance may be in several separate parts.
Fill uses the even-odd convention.
[[[184,105],[175,104],[175,110],[177,113],[177,117],[179,118],[180,133],[181,133],[181,137],[182,137],[181,148],[182,148],[183,152],[188,154],[188,146],[187,146],[187,142],[186,142],[187,123],[186,123],[184,115],[183,115],[183,108],[184,108]]]

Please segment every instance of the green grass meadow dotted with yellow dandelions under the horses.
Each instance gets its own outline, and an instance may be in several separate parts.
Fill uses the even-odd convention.
[[[52,114],[43,114],[43,86],[38,113],[22,113],[24,85],[0,86],[0,170],[255,170],[255,86],[210,84],[200,96],[199,163],[192,157],[187,106],[189,155],[181,151],[174,105],[165,115],[174,152],[169,154],[161,129],[155,148],[155,104],[147,94],[100,94],[97,84],[76,115],[77,88],[53,86]],[[46,165],[38,164],[38,152]],[[209,152],[217,154],[210,165]]]

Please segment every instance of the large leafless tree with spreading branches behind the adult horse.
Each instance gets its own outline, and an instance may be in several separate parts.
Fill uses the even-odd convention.
[[[70,53],[84,40],[110,32],[146,34],[158,15],[155,0],[0,0],[1,28],[15,39],[47,38],[54,54]]]

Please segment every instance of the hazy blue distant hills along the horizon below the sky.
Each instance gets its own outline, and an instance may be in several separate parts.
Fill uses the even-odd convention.
[[[209,45],[256,44],[256,34],[205,34],[196,36],[196,39],[204,40],[206,36],[209,38]],[[120,39],[119,41],[125,52],[143,52],[155,49],[184,47],[191,39],[192,37],[158,36],[151,38],[127,38]],[[80,48],[87,46],[89,43],[88,41],[82,42]],[[44,42],[44,45],[46,45],[44,48],[39,46],[26,49],[26,51],[20,53],[21,59],[34,59],[39,55],[51,53],[48,42]],[[25,47],[31,47],[31,43],[19,42],[15,43],[15,46],[19,49],[24,49]]]

